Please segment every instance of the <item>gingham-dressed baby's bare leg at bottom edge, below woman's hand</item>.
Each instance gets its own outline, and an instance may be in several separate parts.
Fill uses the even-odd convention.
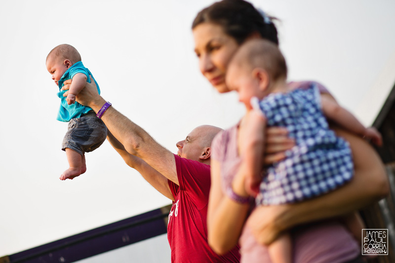
[[[289,233],[280,235],[268,247],[273,263],[292,263],[292,240]]]

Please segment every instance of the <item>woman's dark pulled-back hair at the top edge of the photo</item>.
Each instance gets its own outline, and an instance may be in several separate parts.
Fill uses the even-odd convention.
[[[201,10],[192,29],[201,23],[214,23],[222,26],[225,34],[236,39],[238,44],[244,42],[253,33],[278,45],[277,29],[273,24],[274,17],[263,15],[249,2],[244,0],[222,0]]]

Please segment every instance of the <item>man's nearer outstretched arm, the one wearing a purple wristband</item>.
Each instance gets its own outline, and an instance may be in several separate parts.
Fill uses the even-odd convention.
[[[68,89],[70,81],[64,83],[63,88]],[[98,113],[106,103],[106,100],[98,94],[94,81],[86,82],[85,88],[77,96],[77,101],[90,107],[95,113]],[[158,144],[145,130],[113,107],[109,107],[101,115],[101,119],[127,152],[141,158],[160,174],[178,185],[175,158],[171,151]]]

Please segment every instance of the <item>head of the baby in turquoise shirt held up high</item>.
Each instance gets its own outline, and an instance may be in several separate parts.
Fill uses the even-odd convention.
[[[68,44],[61,44],[49,52],[46,57],[45,66],[57,85],[59,79],[65,74],[67,69],[79,61],[81,61],[81,56],[75,47]]]

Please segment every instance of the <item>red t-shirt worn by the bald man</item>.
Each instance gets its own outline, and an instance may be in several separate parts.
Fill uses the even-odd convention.
[[[218,256],[207,243],[210,166],[175,154],[174,157],[180,186],[168,181],[175,198],[167,225],[171,262],[239,262],[239,246]]]

